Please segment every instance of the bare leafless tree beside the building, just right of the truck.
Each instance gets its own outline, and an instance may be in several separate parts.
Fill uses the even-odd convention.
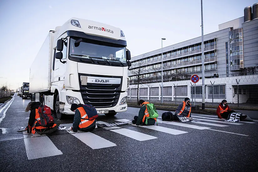
[[[130,72],[133,74],[132,76],[135,76],[134,83],[137,84],[137,102],[139,101],[139,85],[142,83],[143,79],[143,68],[144,62],[143,60],[139,60],[136,63],[134,63],[132,66],[133,68],[130,70]]]

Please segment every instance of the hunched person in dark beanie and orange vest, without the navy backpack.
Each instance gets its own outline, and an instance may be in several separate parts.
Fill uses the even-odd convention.
[[[78,130],[84,132],[90,132],[96,127],[96,119],[88,120],[88,115],[86,113],[86,108],[83,107],[83,104],[72,104],[71,111],[75,112],[73,119],[73,127],[71,130],[77,132]]]

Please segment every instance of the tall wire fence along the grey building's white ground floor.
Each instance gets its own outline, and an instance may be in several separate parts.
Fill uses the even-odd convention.
[[[163,87],[163,104],[177,106],[186,97],[192,105],[202,105],[202,82],[190,84],[191,81],[165,83]],[[169,86],[171,85],[171,86]],[[139,99],[161,103],[161,87],[158,84],[141,85]],[[128,102],[136,103],[137,89],[131,86]],[[145,88],[144,88],[145,87]],[[258,75],[246,75],[224,78],[205,79],[205,108],[217,108],[225,99],[231,109],[258,110]]]

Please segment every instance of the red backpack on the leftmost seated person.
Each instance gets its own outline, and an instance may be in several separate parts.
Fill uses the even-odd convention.
[[[40,121],[36,120],[41,126],[49,128],[55,124],[54,115],[52,114],[50,107],[47,105],[39,106],[38,114],[40,116]]]

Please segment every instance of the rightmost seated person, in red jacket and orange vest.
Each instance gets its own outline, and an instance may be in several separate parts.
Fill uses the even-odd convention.
[[[222,100],[217,108],[217,115],[220,119],[228,119],[229,114],[234,113],[234,110],[231,110],[229,105],[227,104],[227,100]],[[247,115],[241,115],[240,120],[243,120],[247,117]]]

